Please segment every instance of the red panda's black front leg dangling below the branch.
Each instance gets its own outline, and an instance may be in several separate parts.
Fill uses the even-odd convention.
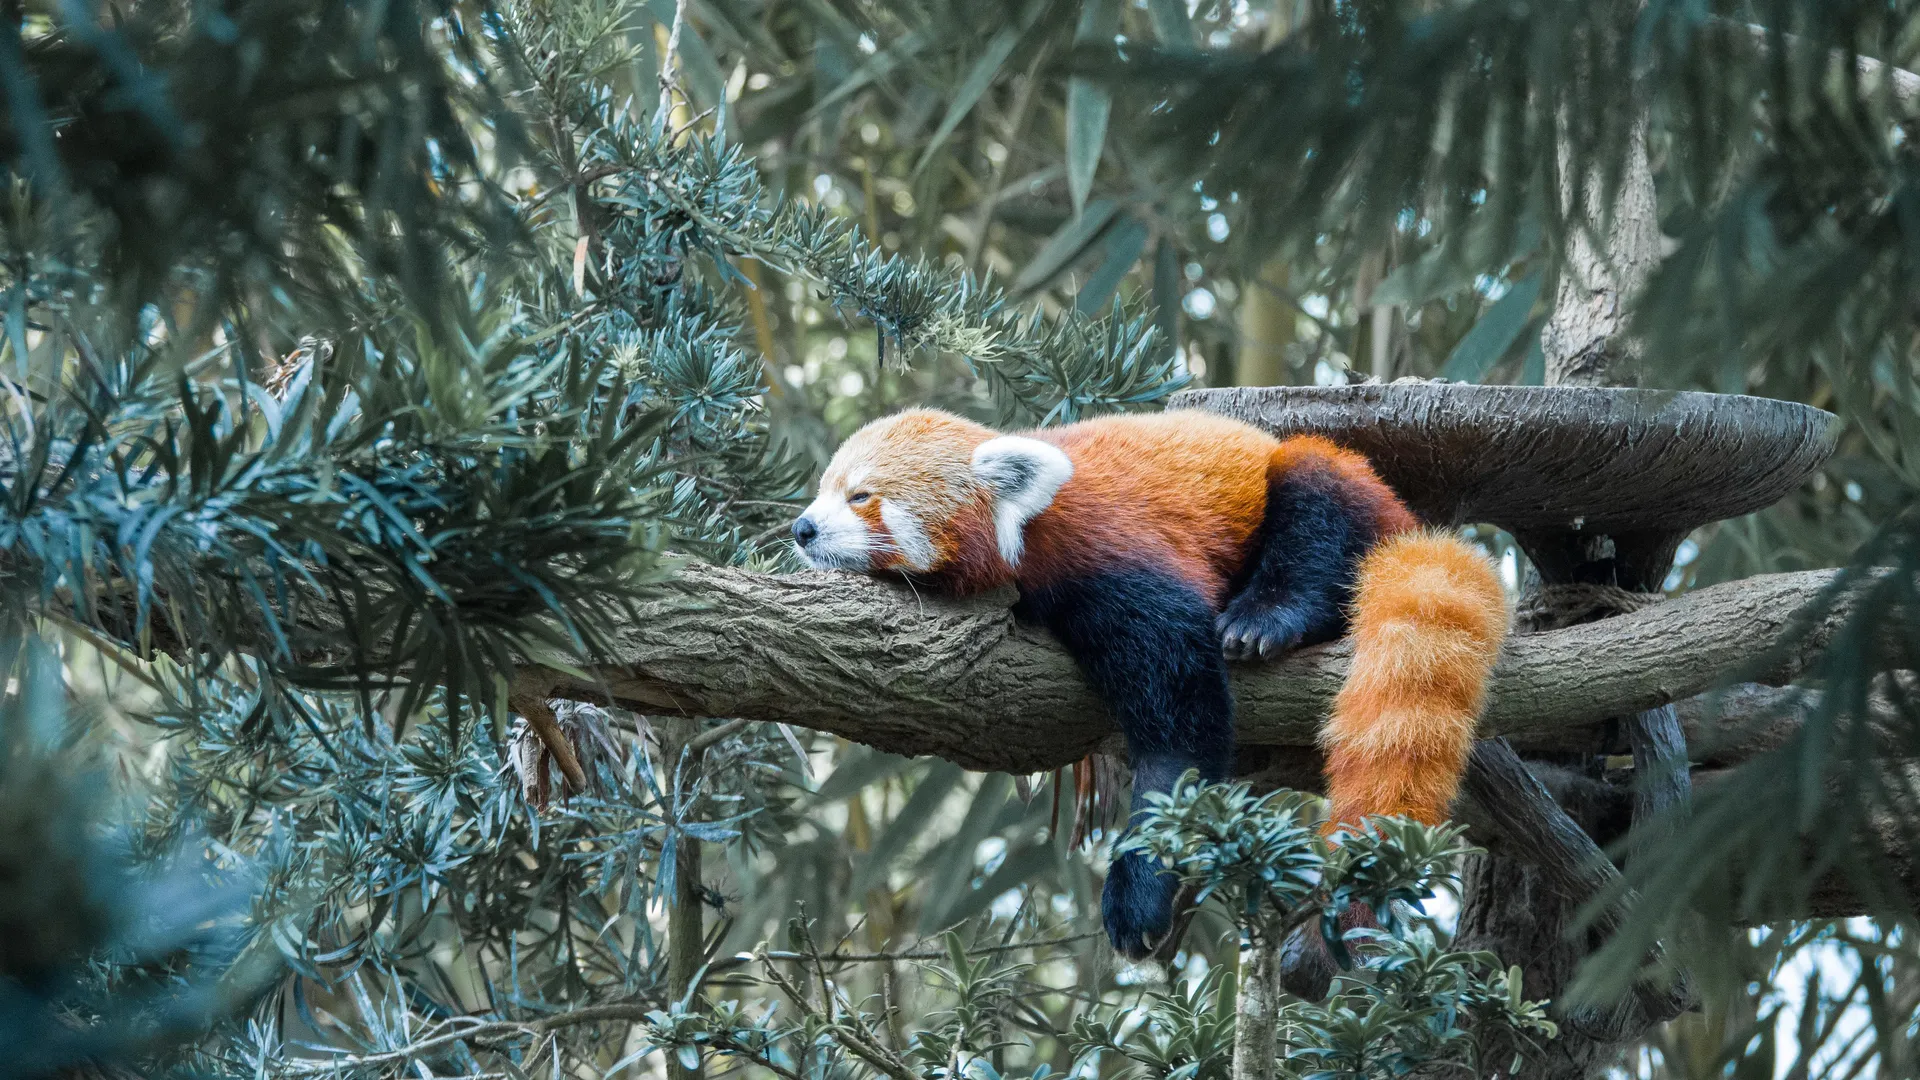
[[[1133,819],[1148,792],[1188,769],[1227,778],[1233,698],[1212,609],[1165,571],[1110,571],[1033,590],[1023,607],[1046,623],[1127,734]],[[1173,928],[1177,882],[1140,855],[1114,859],[1100,915],[1114,947],[1140,959]]]

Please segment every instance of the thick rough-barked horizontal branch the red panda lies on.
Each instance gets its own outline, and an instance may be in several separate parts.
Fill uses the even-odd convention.
[[[1592,748],[1607,717],[1655,709],[1732,675],[1784,684],[1824,648],[1845,598],[1795,613],[1830,571],[1703,588],[1603,623],[1517,634],[1482,734]],[[828,730],[968,769],[1039,773],[1114,732],[1068,653],[1018,625],[1010,596],[950,601],[854,575],[689,567],[645,605],[618,655],[553,694],[653,715],[747,717]],[[1244,746],[1311,748],[1346,678],[1346,646],[1235,665]]]

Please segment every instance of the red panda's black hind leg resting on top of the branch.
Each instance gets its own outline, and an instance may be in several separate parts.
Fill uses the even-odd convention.
[[[1269,486],[1260,546],[1215,621],[1227,659],[1275,657],[1346,632],[1354,571],[1375,536],[1338,484],[1332,471],[1304,465]]]

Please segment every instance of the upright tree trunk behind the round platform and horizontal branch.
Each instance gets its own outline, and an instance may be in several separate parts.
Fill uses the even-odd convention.
[[[1563,150],[1563,165],[1569,165]],[[1571,204],[1571,169],[1561,169],[1563,198]],[[1561,267],[1553,315],[1542,331],[1546,382],[1549,386],[1601,386],[1626,363],[1638,359],[1638,342],[1626,334],[1628,306],[1659,263],[1659,219],[1653,173],[1647,165],[1645,119],[1628,140],[1620,186],[1613,204],[1603,206],[1599,177],[1586,181],[1586,206],[1569,213],[1603,225],[1596,236],[1574,229]],[[1653,594],[1672,565],[1686,528],[1584,530],[1582,521],[1563,527],[1517,532],[1538,573],[1523,630],[1546,630],[1603,619],[1605,596]],[[1584,586],[1584,588],[1582,588]],[[1596,601],[1596,598],[1601,598]],[[1653,817],[1670,822],[1668,811],[1688,799],[1688,753],[1678,715],[1670,707],[1622,717],[1634,753],[1636,782],[1642,769],[1657,774],[1653,788],[1642,788],[1634,801],[1634,830]],[[1594,748],[1597,753],[1601,748]],[[1592,755],[1588,755],[1592,759]],[[1523,844],[1526,855],[1478,855],[1463,872],[1461,928],[1457,945],[1492,949],[1521,963],[1526,994],[1559,1001],[1588,955],[1590,942],[1571,936],[1574,911],[1617,876],[1599,847],[1551,798],[1530,782],[1519,755],[1503,740],[1475,748],[1469,784],[1482,811],[1507,813],[1517,836],[1534,832],[1542,844]],[[1498,778],[1505,778],[1501,784]],[[1523,796],[1532,796],[1530,799]],[[1496,805],[1503,803],[1503,805]],[[1519,813],[1528,807],[1526,813]],[[1557,840],[1557,842],[1549,842]],[[1582,880],[1597,878],[1597,880]],[[1619,919],[1619,909],[1609,913]],[[1596,926],[1605,932],[1607,924]],[[1682,978],[1672,988],[1638,986],[1636,995],[1613,1009],[1567,1011],[1561,1038],[1546,1059],[1530,1063],[1530,1080],[1578,1080],[1599,1068],[1622,1042],[1640,1038],[1651,1026],[1670,1020],[1693,1003]]]

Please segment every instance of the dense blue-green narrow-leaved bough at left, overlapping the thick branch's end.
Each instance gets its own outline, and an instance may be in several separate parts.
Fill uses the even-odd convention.
[[[71,354],[6,423],[15,619],[190,644],[200,676],[234,653],[313,690],[407,669],[405,715],[430,686],[490,701],[515,653],[591,648],[647,578],[634,479],[662,417],[601,361],[388,325],[311,346],[269,392],[221,354],[46,317],[40,356]]]

